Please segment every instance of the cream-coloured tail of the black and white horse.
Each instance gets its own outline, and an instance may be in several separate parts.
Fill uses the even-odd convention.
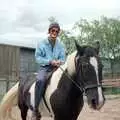
[[[18,84],[15,84],[3,97],[0,103],[0,120],[10,118],[12,107],[17,105]]]

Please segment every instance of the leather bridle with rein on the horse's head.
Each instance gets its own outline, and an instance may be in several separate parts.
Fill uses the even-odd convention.
[[[86,90],[88,89],[93,89],[93,88],[97,88],[97,87],[102,87],[102,84],[91,84],[91,85],[85,85],[85,82],[84,82],[84,76],[83,76],[83,71],[84,71],[84,68],[83,68],[83,63],[80,62],[79,64],[78,63],[78,60],[80,60],[80,57],[75,57],[75,68],[76,68],[76,71],[79,72],[82,76],[82,79],[80,83],[77,83],[75,80],[72,79],[71,75],[69,75],[67,72],[65,72],[63,70],[62,67],[60,67],[60,69],[65,73],[65,75],[68,77],[68,79],[70,79],[72,81],[72,83],[82,92],[82,93],[85,93]],[[85,62],[84,62],[85,63]],[[88,64],[88,63],[86,63]],[[79,66],[78,66],[79,65]],[[77,69],[78,68],[78,69]]]

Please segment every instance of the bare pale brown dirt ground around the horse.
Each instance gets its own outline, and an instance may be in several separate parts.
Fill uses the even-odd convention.
[[[18,113],[18,112],[17,112]],[[15,114],[15,111],[14,111]],[[20,120],[18,118],[18,120]],[[42,118],[42,120],[53,120]],[[78,120],[120,120],[120,97],[109,97],[100,111],[94,111],[85,103]]]

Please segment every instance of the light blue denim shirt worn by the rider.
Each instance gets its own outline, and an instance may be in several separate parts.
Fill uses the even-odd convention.
[[[55,46],[52,45],[48,38],[39,41],[35,51],[35,59],[40,66],[49,65],[51,60],[60,60],[65,62],[65,48],[59,39],[56,39]]]

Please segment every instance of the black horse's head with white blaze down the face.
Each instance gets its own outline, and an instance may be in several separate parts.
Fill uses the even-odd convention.
[[[99,58],[99,44],[81,47],[76,43],[77,55],[75,61],[76,80],[85,92],[88,104],[93,109],[100,109],[104,105],[102,91],[102,63]]]

